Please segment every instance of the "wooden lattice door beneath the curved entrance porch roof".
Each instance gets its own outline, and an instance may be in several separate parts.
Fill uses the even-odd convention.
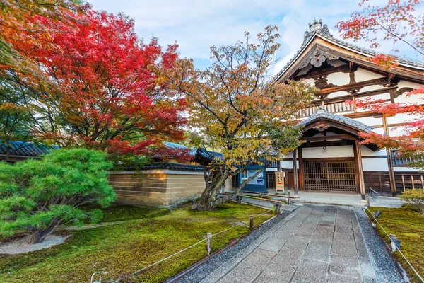
[[[305,190],[356,192],[353,161],[304,162]]]

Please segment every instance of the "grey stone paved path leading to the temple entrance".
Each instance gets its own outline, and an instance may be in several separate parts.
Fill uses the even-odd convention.
[[[307,204],[201,282],[403,282],[393,262],[389,279],[375,265],[355,209]]]

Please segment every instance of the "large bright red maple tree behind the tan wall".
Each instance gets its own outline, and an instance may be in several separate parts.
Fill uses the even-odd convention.
[[[60,16],[8,11],[20,25],[8,26],[1,38],[35,63],[34,71],[3,64],[8,83],[22,89],[11,103],[32,110],[33,132],[43,141],[116,156],[167,156],[162,141],[184,137],[185,100],[151,67],[172,68],[177,45],[163,50],[154,37],[142,42],[123,14],[72,7],[59,6]],[[17,35],[8,38],[13,30]],[[172,152],[188,157],[179,154]]]

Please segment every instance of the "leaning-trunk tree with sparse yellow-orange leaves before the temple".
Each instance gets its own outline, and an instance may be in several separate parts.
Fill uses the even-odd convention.
[[[223,158],[211,163],[212,183],[206,183],[197,209],[213,209],[220,187],[246,166],[278,160],[299,144],[300,128],[292,120],[312,99],[315,89],[304,81],[274,84],[269,76],[276,27],[267,27],[257,42],[211,47],[211,67],[194,69],[192,59],[179,59],[173,69],[161,69],[172,87],[184,94],[189,125],[207,137],[206,145]],[[259,174],[262,170],[258,170]],[[245,185],[249,180],[242,183]]]

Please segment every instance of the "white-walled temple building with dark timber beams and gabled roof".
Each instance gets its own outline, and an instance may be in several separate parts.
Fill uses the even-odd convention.
[[[272,168],[266,168],[266,189],[275,189],[275,171],[283,171],[285,189],[351,192],[362,195],[370,187],[382,195],[396,195],[408,188],[424,187],[423,173],[408,168],[411,160],[396,149],[380,150],[360,144],[359,132],[396,136],[411,115],[382,117],[360,110],[346,100],[383,99],[397,103],[423,103],[423,96],[406,93],[424,83],[424,63],[397,59],[391,69],[370,61],[375,51],[334,38],[321,20],[310,24],[300,50],[276,76],[312,83],[319,88],[312,106],[302,111],[302,144]],[[295,162],[293,162],[295,161]],[[264,174],[265,175],[265,174]]]

